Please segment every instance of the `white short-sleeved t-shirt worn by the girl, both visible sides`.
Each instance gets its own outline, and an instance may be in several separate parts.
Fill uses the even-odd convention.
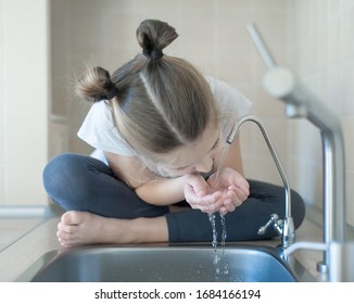
[[[215,103],[222,117],[222,134],[229,135],[235,123],[249,114],[251,102],[238,90],[214,77],[205,77],[211,86]],[[113,110],[106,102],[96,102],[88,112],[77,135],[96,151],[91,156],[106,163],[103,151],[125,156],[135,156],[135,151],[121,137],[115,127]]]

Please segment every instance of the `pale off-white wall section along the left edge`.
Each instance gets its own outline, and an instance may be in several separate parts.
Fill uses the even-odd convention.
[[[0,205],[47,203],[49,4],[0,0]]]

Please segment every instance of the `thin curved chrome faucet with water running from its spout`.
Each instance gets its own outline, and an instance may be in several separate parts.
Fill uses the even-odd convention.
[[[289,180],[288,177],[286,175],[286,172],[281,165],[281,162],[278,157],[278,154],[276,152],[275,147],[273,145],[270,138],[268,136],[268,132],[266,130],[266,128],[264,127],[264,125],[262,124],[262,122],[255,117],[255,116],[243,116],[241,117],[241,119],[233,126],[232,130],[230,131],[229,136],[227,137],[226,141],[227,143],[231,144],[237,136],[237,134],[239,132],[241,126],[245,123],[245,122],[252,122],[255,123],[257,125],[257,127],[260,128],[263,138],[265,140],[265,142],[267,143],[267,147],[269,149],[269,152],[273,156],[273,160],[277,166],[277,169],[280,174],[283,187],[285,187],[285,194],[286,194],[286,214],[285,214],[285,218],[281,219],[279,218],[279,216],[277,214],[271,214],[270,215],[270,219],[268,220],[268,223],[265,226],[262,226],[258,229],[258,235],[264,235],[266,232],[266,230],[268,229],[268,227],[273,226],[274,229],[278,232],[279,236],[281,236],[281,246],[282,249],[287,249],[288,246],[290,246],[292,243],[295,242],[295,227],[294,227],[294,223],[291,216],[291,189],[289,186]]]

